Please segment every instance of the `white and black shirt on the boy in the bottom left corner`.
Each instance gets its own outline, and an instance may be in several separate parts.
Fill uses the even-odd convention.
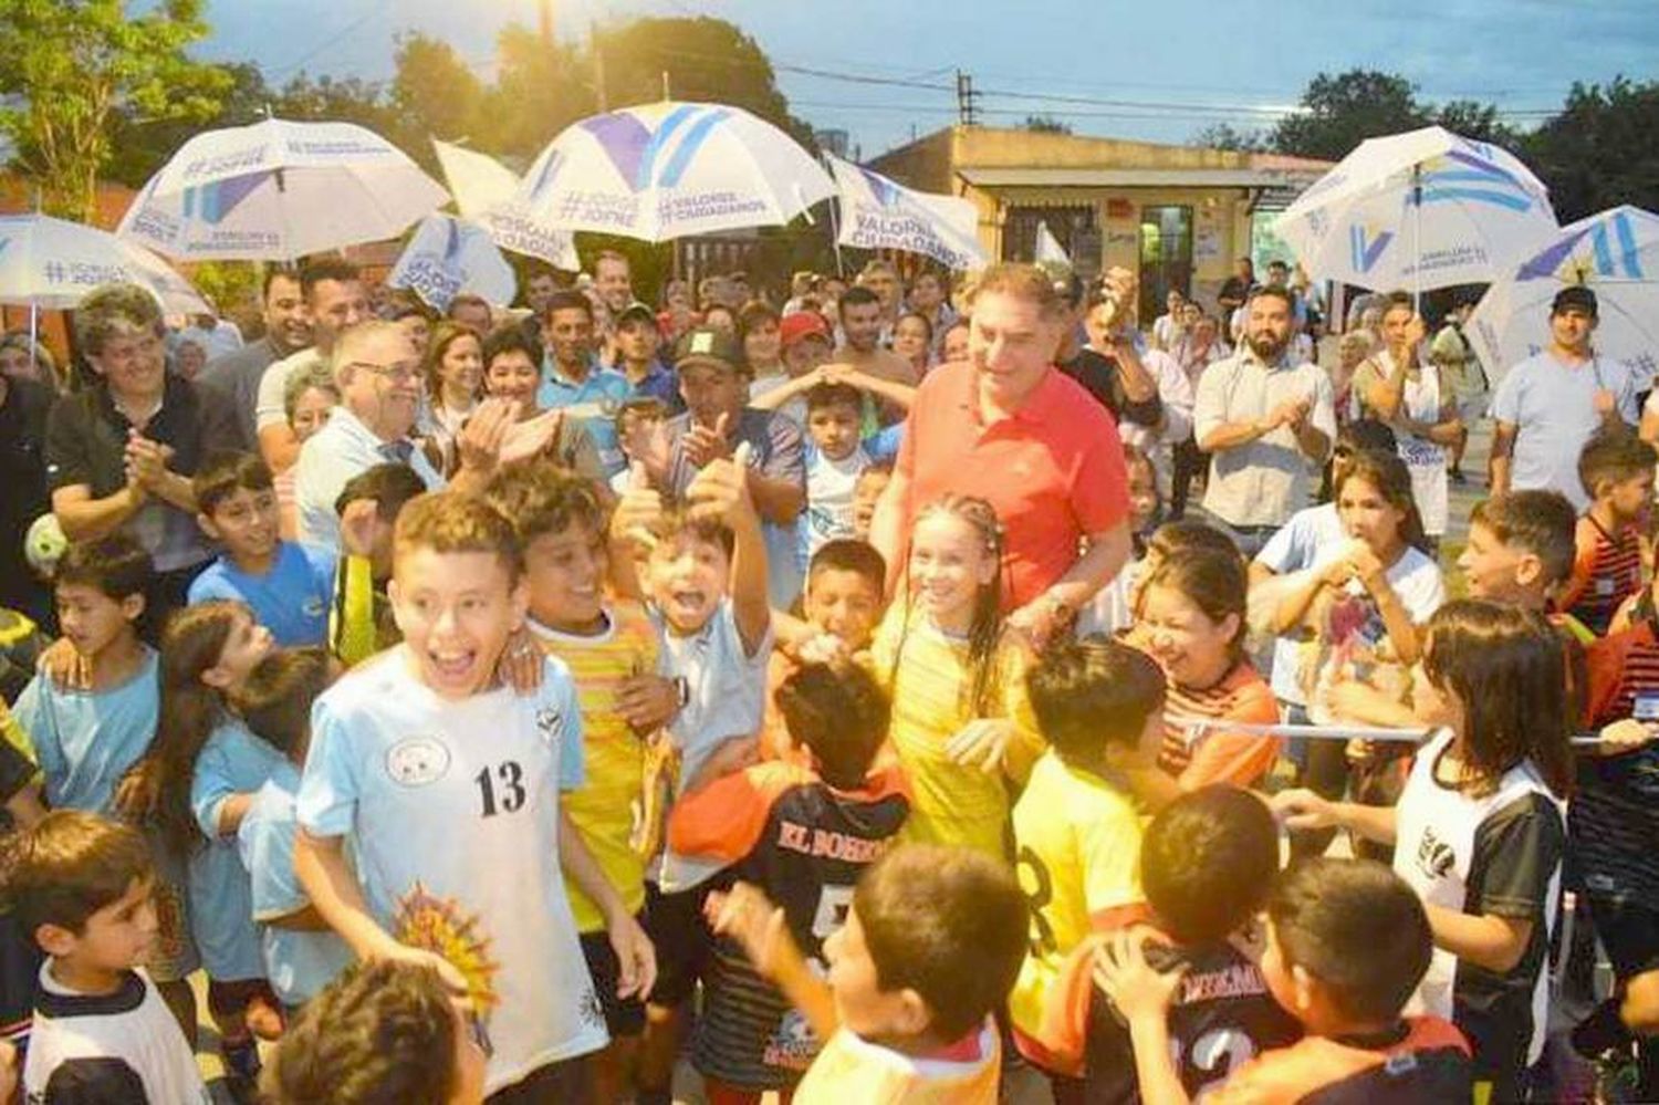
[[[76,994],[51,977],[48,959],[40,966],[23,1093],[46,1102],[70,1100],[71,1090],[85,1093],[73,1100],[212,1103],[179,1022],[141,971],[123,976],[114,994]]]

